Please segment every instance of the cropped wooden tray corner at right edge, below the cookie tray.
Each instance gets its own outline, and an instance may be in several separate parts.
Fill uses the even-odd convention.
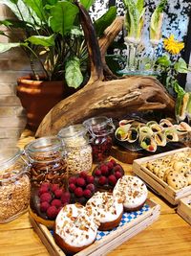
[[[177,213],[181,218],[191,224],[191,196],[180,199]]]

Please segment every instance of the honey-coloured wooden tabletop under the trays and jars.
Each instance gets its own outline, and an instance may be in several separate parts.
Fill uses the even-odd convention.
[[[32,139],[32,133],[27,130],[19,140],[18,146],[22,148]],[[121,165],[126,174],[132,174],[132,165]],[[107,255],[191,256],[191,226],[176,213],[176,207],[170,206],[151,191],[149,198],[161,206],[159,220]],[[0,256],[50,255],[33,231],[28,213],[14,221],[1,224],[0,235]]]

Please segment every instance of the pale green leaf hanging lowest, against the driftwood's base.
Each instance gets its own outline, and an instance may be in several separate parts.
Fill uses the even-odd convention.
[[[71,58],[66,63],[65,80],[69,87],[77,88],[83,81],[83,76],[80,71],[79,58]]]

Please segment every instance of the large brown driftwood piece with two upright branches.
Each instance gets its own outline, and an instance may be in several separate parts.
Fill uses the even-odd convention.
[[[105,52],[121,30],[122,18],[117,18],[98,42],[89,14],[80,4],[77,6],[91,60],[90,80],[52,108],[37,129],[36,137],[56,134],[62,127],[96,115],[120,117],[133,111],[154,109],[174,112],[175,102],[159,81],[152,77],[117,79],[106,65]],[[106,81],[108,76],[113,80]]]

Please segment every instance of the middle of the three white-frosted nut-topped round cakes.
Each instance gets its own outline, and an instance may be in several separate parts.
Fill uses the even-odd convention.
[[[96,211],[96,218],[100,222],[98,230],[111,230],[116,227],[123,214],[123,204],[109,192],[96,192],[90,198],[86,207]]]

